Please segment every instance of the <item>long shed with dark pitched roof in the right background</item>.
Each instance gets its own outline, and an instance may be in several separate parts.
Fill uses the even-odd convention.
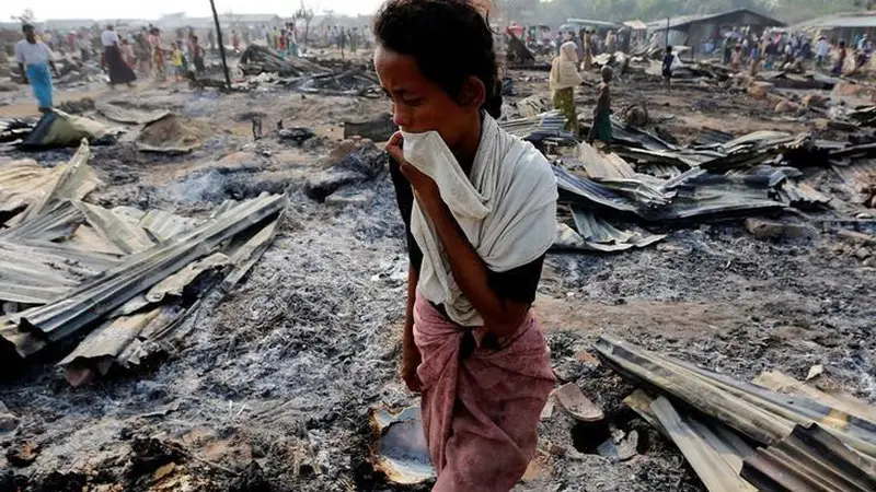
[[[724,35],[736,28],[748,27],[760,35],[768,27],[783,27],[785,23],[776,19],[759,14],[748,9],[705,15],[682,15],[648,23],[648,35],[657,43],[665,43],[667,30],[670,45],[685,45],[692,48],[693,55],[703,52],[703,46],[710,39],[724,39]]]

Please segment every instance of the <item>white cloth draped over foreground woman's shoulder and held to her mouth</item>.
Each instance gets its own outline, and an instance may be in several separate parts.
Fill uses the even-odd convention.
[[[435,131],[406,133],[404,157],[433,178],[469,243],[487,268],[505,272],[534,261],[556,236],[556,178],[548,160],[484,116],[481,144],[466,176]],[[431,221],[414,201],[411,233],[423,251],[417,289],[461,326],[484,320],[465,298],[450,270]]]

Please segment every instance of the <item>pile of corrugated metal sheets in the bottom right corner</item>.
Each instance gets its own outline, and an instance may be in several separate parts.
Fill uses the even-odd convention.
[[[676,443],[710,491],[876,487],[876,420],[868,420],[876,407],[833,407],[834,399],[817,390],[782,395],[614,337],[600,337],[597,350],[612,368],[660,394],[652,398],[639,389],[625,401]],[[744,437],[768,447],[756,452]],[[809,469],[835,479],[820,481]]]

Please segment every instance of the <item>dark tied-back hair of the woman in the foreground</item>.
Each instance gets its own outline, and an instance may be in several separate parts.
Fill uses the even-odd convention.
[[[374,37],[384,48],[414,57],[423,74],[452,97],[469,77],[486,87],[483,108],[498,118],[498,82],[493,31],[466,0],[388,0],[374,17]]]

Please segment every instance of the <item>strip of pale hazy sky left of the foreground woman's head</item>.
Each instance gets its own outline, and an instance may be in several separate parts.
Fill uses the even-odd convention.
[[[333,10],[345,14],[365,14],[377,10],[381,0],[306,0],[318,12]],[[289,16],[300,0],[216,0],[219,13],[276,13]],[[209,0],[27,0],[0,2],[0,21],[32,9],[37,20],[46,19],[155,19],[162,13],[185,12],[189,16],[210,14]]]

